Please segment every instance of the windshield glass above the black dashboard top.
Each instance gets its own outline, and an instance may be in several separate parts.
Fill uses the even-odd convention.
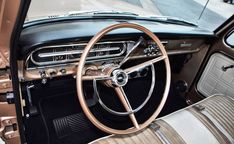
[[[234,5],[222,0],[32,0],[26,22],[94,14],[173,17],[213,31],[234,14]]]

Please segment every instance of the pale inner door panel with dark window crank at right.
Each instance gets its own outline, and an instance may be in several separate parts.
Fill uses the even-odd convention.
[[[204,96],[223,94],[234,98],[234,60],[213,54],[198,82],[197,89]]]

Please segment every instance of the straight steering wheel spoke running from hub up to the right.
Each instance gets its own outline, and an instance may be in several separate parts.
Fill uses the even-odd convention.
[[[150,66],[150,65],[152,65],[152,64],[154,64],[154,63],[160,62],[160,61],[162,61],[162,60],[164,60],[164,59],[166,59],[166,58],[167,58],[166,56],[162,55],[162,56],[159,56],[159,57],[154,58],[154,59],[152,59],[152,60],[149,60],[149,61],[140,63],[140,64],[138,64],[138,65],[135,65],[135,66],[132,66],[132,67],[129,67],[129,68],[126,68],[124,71],[125,71],[127,74],[130,74],[130,73],[132,73],[132,72],[134,72],[134,71],[137,71],[137,70],[142,69],[142,68],[144,68],[144,67]]]

